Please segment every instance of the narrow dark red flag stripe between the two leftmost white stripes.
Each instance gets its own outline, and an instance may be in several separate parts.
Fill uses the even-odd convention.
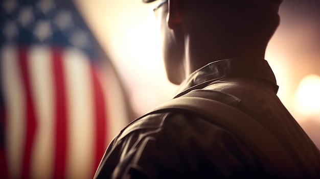
[[[37,119],[32,100],[31,83],[28,69],[28,49],[26,47],[19,48],[19,67],[21,71],[22,84],[26,93],[26,144],[24,150],[24,159],[22,160],[21,178],[30,178],[31,155],[34,144],[34,138],[37,129]]]

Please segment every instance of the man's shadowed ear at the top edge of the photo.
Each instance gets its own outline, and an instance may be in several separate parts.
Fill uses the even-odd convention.
[[[168,5],[168,27],[175,29],[182,22],[182,1],[184,0],[169,0]]]

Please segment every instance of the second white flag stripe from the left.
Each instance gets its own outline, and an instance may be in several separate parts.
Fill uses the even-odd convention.
[[[54,86],[51,49],[33,47],[28,56],[30,82],[37,116],[31,159],[31,178],[50,178],[54,154]]]

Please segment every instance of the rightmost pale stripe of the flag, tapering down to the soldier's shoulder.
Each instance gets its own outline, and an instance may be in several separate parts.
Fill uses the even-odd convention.
[[[123,91],[111,65],[107,66],[104,74],[99,75],[102,82],[106,104],[107,141],[106,145],[128,124],[128,111],[125,105]]]

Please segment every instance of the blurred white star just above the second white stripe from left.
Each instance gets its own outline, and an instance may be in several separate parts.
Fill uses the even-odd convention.
[[[33,34],[38,37],[40,41],[48,39],[52,35],[50,21],[39,20]]]

